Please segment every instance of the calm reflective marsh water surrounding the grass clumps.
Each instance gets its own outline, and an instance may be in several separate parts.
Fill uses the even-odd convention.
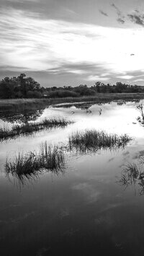
[[[78,103],[1,116],[1,127],[53,117],[74,122],[65,128],[1,142],[1,256],[144,254],[144,195],[138,183],[125,187],[119,182],[123,164],[138,162],[144,155],[144,127],[137,121],[138,104]],[[19,151],[37,151],[45,141],[61,147],[68,143],[71,133],[86,129],[127,133],[132,141],[115,151],[66,152],[66,167],[58,175],[41,172],[24,184],[6,175],[7,157],[13,161]]]

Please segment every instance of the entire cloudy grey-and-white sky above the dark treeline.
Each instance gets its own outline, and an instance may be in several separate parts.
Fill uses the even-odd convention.
[[[0,78],[144,85],[143,0],[0,0]]]

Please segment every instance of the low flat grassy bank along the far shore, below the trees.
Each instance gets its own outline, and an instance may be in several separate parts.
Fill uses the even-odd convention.
[[[40,107],[46,107],[53,104],[65,102],[110,102],[113,100],[140,100],[144,99],[143,93],[117,93],[117,94],[96,94],[94,96],[84,97],[66,97],[66,98],[51,98],[51,99],[14,99],[14,100],[0,100],[0,112],[4,111],[24,111],[37,110]]]

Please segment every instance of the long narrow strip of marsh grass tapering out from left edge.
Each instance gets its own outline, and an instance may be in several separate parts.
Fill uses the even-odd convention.
[[[22,125],[12,125],[11,129],[0,128],[0,141],[20,135],[29,135],[43,129],[50,129],[56,127],[63,128],[70,123],[73,122],[65,120],[64,118],[51,118],[44,119],[37,123],[23,123]]]

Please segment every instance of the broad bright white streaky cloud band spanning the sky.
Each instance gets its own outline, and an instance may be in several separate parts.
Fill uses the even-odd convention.
[[[101,73],[144,70],[143,29],[42,19],[38,13],[1,9],[0,30],[1,66],[6,69],[86,74],[103,81],[109,75],[102,78]]]

